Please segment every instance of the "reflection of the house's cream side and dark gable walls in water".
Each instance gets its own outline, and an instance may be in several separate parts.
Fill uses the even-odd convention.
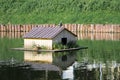
[[[75,53],[40,53],[27,52],[24,53],[25,61],[48,62],[57,65],[61,69],[71,66],[76,60]]]

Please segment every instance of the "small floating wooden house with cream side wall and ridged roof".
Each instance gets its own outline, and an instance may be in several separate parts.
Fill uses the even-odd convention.
[[[77,36],[64,27],[35,27],[24,35],[24,48],[36,45],[52,49],[53,43],[66,44],[76,40]]]

